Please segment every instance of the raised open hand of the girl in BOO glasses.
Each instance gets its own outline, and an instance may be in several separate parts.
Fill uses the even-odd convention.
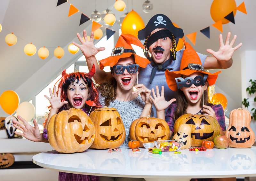
[[[172,102],[176,101],[176,99],[171,99],[169,101],[166,101],[164,99],[164,86],[162,86],[161,96],[159,93],[158,86],[156,86],[156,94],[155,94],[155,90],[152,89],[152,95],[154,98],[150,96],[150,99],[154,103],[156,107],[156,111],[164,111],[170,104],[172,104]]]

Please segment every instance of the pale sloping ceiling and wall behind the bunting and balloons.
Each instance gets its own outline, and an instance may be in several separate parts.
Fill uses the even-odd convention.
[[[129,4],[129,11],[132,6],[138,12],[145,24],[157,13],[167,15],[173,22],[178,24],[185,35],[197,31],[196,51],[207,54],[207,48],[215,51],[219,48],[218,37],[220,31],[210,27],[211,39],[201,34],[199,30],[214,23],[210,15],[212,1],[205,0],[151,0],[154,8],[150,13],[142,11],[144,0],[124,0]],[[95,10],[95,0],[70,0],[76,8],[84,14],[90,16]],[[96,0],[97,10],[102,12],[109,6],[113,7],[115,0]],[[242,0],[236,0],[236,5]],[[107,5],[108,4],[108,5]],[[91,21],[79,26],[81,13],[78,12],[68,17],[69,3],[56,7],[57,0],[5,0],[0,5],[0,23],[3,26],[0,32],[0,94],[5,90],[14,90],[20,96],[20,102],[27,101],[36,95],[42,86],[46,86],[60,73],[61,68],[68,66],[74,59],[81,56],[79,53],[72,55],[67,50],[67,45],[72,41],[78,43],[76,33],[81,33],[83,29],[90,32]],[[128,6],[128,5],[127,5]],[[127,12],[127,6],[124,12]],[[223,36],[230,31],[232,35],[237,35],[236,44],[242,42],[243,46],[235,52],[234,63],[231,68],[223,70],[219,75],[216,86],[217,90],[223,91],[232,106],[241,104],[241,54],[245,50],[256,50],[256,37],[254,36],[256,1],[245,1],[247,15],[237,12],[235,16],[236,24],[228,23],[223,25]],[[117,12],[114,8],[117,19],[124,12]],[[119,25],[113,26],[118,30]],[[4,38],[8,33],[13,32],[18,37],[18,42],[9,47]],[[103,32],[104,33],[104,32]],[[190,43],[190,41],[186,38]],[[47,47],[50,55],[42,60],[37,56],[25,55],[23,49],[27,43],[40,47]],[[61,59],[53,56],[55,47],[62,46],[65,55]],[[106,45],[107,46],[107,45]],[[227,81],[228,80],[228,81]],[[227,86],[227,82],[230,83]],[[2,112],[1,112],[2,111]],[[4,113],[0,110],[0,113]]]

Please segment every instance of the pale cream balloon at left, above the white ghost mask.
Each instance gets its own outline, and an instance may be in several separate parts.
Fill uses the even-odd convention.
[[[34,117],[35,112],[35,106],[27,101],[20,103],[16,110],[17,116],[20,115],[28,122]]]

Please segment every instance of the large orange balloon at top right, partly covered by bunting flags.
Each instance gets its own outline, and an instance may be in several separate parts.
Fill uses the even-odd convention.
[[[230,12],[234,13],[234,17],[236,15],[236,1],[235,0],[213,0],[211,5],[211,16],[212,20],[217,22],[222,20],[222,24],[227,24],[230,21],[225,19]]]

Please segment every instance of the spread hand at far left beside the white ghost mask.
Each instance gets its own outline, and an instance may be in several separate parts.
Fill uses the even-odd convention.
[[[13,120],[13,123],[14,123],[13,126],[18,130],[21,130],[23,133],[14,131],[15,134],[24,136],[30,141],[35,141],[35,142],[42,141],[43,134],[40,133],[39,127],[35,119],[34,119],[35,127],[33,127],[30,124],[28,124],[28,122],[25,119],[23,119],[20,115],[18,115],[18,118],[20,119],[21,122],[23,122],[23,124],[19,121]]]

